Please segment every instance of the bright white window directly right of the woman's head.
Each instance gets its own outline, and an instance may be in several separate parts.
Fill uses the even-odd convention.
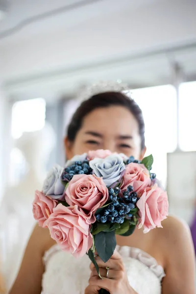
[[[167,153],[176,148],[176,91],[172,85],[131,90],[143,111],[147,155],[154,157],[153,171],[167,182]]]

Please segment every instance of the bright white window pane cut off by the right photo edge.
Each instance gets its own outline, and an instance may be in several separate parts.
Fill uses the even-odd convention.
[[[179,145],[183,151],[196,150],[196,82],[179,87]]]

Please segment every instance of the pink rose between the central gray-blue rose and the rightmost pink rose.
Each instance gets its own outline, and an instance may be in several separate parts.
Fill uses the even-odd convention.
[[[129,163],[123,175],[121,190],[125,191],[128,186],[133,186],[134,191],[140,196],[140,192],[150,186],[151,180],[147,168],[143,164]]]

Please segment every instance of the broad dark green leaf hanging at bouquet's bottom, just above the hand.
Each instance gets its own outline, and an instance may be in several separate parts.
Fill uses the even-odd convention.
[[[116,236],[115,231],[112,232],[100,232],[95,235],[95,247],[98,252],[98,256],[103,262],[107,262],[113,255],[116,248]]]

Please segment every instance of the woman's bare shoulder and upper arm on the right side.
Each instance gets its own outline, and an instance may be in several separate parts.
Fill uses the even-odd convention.
[[[195,293],[195,251],[188,224],[169,216],[157,229],[166,273],[163,294]]]

